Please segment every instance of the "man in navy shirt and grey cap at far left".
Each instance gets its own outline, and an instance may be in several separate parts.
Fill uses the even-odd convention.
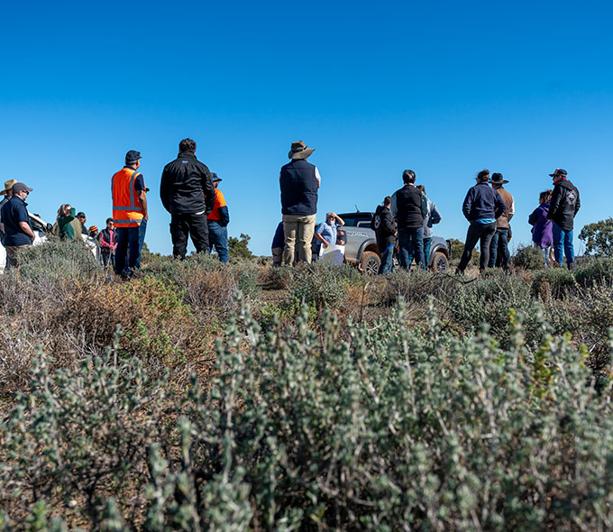
[[[5,249],[7,257],[7,268],[19,265],[18,254],[20,251],[32,246],[34,242],[34,232],[30,225],[30,216],[25,203],[26,197],[32,192],[32,188],[23,183],[13,185],[13,197],[11,197],[2,207],[0,219],[5,231]]]

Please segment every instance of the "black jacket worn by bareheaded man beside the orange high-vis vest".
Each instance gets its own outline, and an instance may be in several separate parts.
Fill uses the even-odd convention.
[[[161,172],[160,199],[171,215],[188,215],[204,211],[208,215],[215,205],[215,187],[211,172],[183,151]]]

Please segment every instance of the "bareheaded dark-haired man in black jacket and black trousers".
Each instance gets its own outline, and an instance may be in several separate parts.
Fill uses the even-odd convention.
[[[178,143],[178,157],[161,173],[160,199],[170,213],[172,254],[185,259],[188,233],[197,253],[208,251],[206,216],[215,205],[215,187],[211,172],[196,159],[196,142]]]

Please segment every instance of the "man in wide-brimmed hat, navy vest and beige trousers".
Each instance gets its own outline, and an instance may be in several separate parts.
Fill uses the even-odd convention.
[[[305,142],[291,143],[288,164],[281,168],[281,213],[285,231],[283,261],[286,264],[311,261],[311,241],[315,233],[317,190],[321,185],[319,171],[306,158],[315,151]]]

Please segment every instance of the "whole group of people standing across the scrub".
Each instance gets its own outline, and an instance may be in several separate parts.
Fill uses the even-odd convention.
[[[184,259],[188,249],[188,236],[196,252],[211,252],[213,247],[220,261],[228,261],[227,225],[230,217],[224,195],[218,186],[222,180],[197,160],[196,142],[183,139],[178,143],[178,156],[162,171],[160,200],[170,214],[170,237],[173,256]],[[303,141],[291,143],[289,162],[279,172],[282,223],[272,243],[273,263],[294,264],[312,258],[311,243],[327,248],[336,243],[337,227],[344,225],[335,213],[327,213],[325,222],[317,231],[316,211],[321,176],[314,164],[306,159],[315,151]],[[117,275],[129,280],[140,266],[149,211],[144,178],[139,171],[141,153],[128,151],[122,170],[111,179],[113,217],[99,234],[97,227],[87,229],[85,213],[75,213],[69,204],[59,207],[56,231],[60,238],[80,237],[88,234],[97,239],[102,261],[113,262]],[[553,246],[554,260],[562,266],[563,254],[569,268],[574,261],[572,247],[573,219],[581,206],[579,191],[567,179],[567,172],[556,169],[553,190],[546,190],[540,205],[529,217],[534,225],[533,241],[544,252],[545,263]],[[371,227],[377,235],[380,251],[380,273],[393,269],[393,257],[398,244],[398,260],[410,269],[427,269],[433,225],[441,221],[435,204],[425,196],[425,188],[416,186],[413,170],[404,170],[404,186],[385,197],[377,207]],[[471,187],[462,204],[462,213],[470,225],[457,273],[462,273],[471,260],[472,250],[480,243],[480,271],[493,266],[508,269],[511,228],[509,222],[515,214],[513,196],[504,185],[508,181],[502,174],[482,170],[477,184]],[[17,252],[32,244],[34,234],[30,225],[25,199],[32,192],[16,180],[5,183],[5,199],[0,204],[0,230],[7,250],[8,266],[18,261]]]

